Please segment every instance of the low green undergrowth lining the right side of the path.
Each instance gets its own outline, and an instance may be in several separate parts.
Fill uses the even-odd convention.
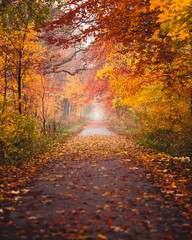
[[[159,114],[155,118],[155,115],[151,115],[152,107],[150,110],[147,112],[140,108],[134,113],[118,110],[109,121],[115,131],[132,137],[146,148],[171,156],[192,158],[192,117],[183,115],[180,122],[176,122],[171,116],[173,112],[168,111],[164,115],[163,109],[157,108],[156,113]]]

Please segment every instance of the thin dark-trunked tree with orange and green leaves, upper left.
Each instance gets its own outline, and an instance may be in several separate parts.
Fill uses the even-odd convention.
[[[33,51],[29,53],[27,50],[29,48],[29,39],[31,39],[31,44],[37,41],[37,34],[33,28],[34,26],[39,26],[40,22],[51,16],[50,7],[53,4],[54,1],[51,0],[13,0],[2,1],[0,6],[1,51],[3,51],[5,59],[8,59],[12,64],[13,78],[17,82],[18,110],[20,114],[22,113],[23,78],[29,68],[34,68],[34,63],[31,64],[34,60],[34,53]],[[32,35],[35,37],[33,38]],[[26,57],[27,54],[28,57]]]

